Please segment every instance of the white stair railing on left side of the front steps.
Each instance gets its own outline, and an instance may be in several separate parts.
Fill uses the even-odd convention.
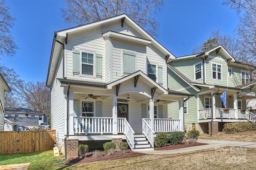
[[[134,148],[134,130],[126,118],[117,118],[118,133],[124,133],[130,148]]]

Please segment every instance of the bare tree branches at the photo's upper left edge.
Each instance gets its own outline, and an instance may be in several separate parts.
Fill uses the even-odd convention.
[[[0,0],[0,56],[6,54],[12,57],[18,46],[10,32],[10,28],[14,26],[15,18],[10,15],[8,10],[4,0]]]

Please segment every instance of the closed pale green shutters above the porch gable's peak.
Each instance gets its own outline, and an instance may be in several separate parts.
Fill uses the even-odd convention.
[[[124,74],[131,74],[136,71],[136,54],[130,51],[123,51]]]

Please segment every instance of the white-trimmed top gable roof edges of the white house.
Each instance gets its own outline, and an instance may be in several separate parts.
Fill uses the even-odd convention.
[[[153,45],[154,48],[156,48],[158,51],[160,51],[163,55],[166,56],[166,59],[175,59],[175,56],[170,51],[168,51],[168,49],[166,49],[159,42],[157,42],[152,36],[150,36],[146,31],[144,31],[140,26],[138,26],[138,24],[136,24],[132,19],[130,19],[126,14],[122,14],[119,16],[114,16],[112,18],[107,18],[105,20],[100,20],[100,21],[92,22],[92,23],[85,24],[82,26],[76,26],[73,28],[68,28],[66,30],[61,30],[61,31],[55,32],[53,43],[52,43],[52,51],[51,51],[50,63],[49,63],[49,67],[48,67],[48,75],[47,75],[46,85],[48,87],[50,87],[52,85],[51,83],[52,83],[52,79],[54,78],[56,67],[57,67],[57,64],[59,61],[60,51],[62,49],[64,49],[64,47],[63,47],[64,41],[66,38],[68,38],[69,35],[77,34],[79,32],[83,32],[83,31],[86,31],[89,29],[94,29],[94,28],[114,24],[117,22],[120,22],[120,25],[123,23],[126,24],[141,37],[138,38],[135,36],[128,36],[128,35],[124,35],[124,34],[122,34],[122,36],[126,36],[130,40],[134,40],[134,41],[138,40],[138,42],[141,42],[144,44],[151,43],[151,45]],[[102,34],[103,34],[102,36],[120,36],[121,35],[120,33],[116,33],[113,31],[105,32]],[[56,43],[56,41],[58,41],[58,43]],[[60,43],[63,43],[63,44],[60,44]]]

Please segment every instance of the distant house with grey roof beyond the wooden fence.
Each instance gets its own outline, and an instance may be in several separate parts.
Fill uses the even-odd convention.
[[[26,108],[5,108],[4,112],[5,117],[35,117],[38,119],[38,123],[36,126],[39,125],[48,125],[48,116],[46,113],[42,113],[39,111],[34,111],[32,109],[26,109]],[[24,121],[27,121],[24,119]],[[26,124],[23,124],[26,126]],[[31,125],[32,126],[32,125]],[[33,125],[34,126],[34,125]],[[32,127],[33,128],[33,127]]]

